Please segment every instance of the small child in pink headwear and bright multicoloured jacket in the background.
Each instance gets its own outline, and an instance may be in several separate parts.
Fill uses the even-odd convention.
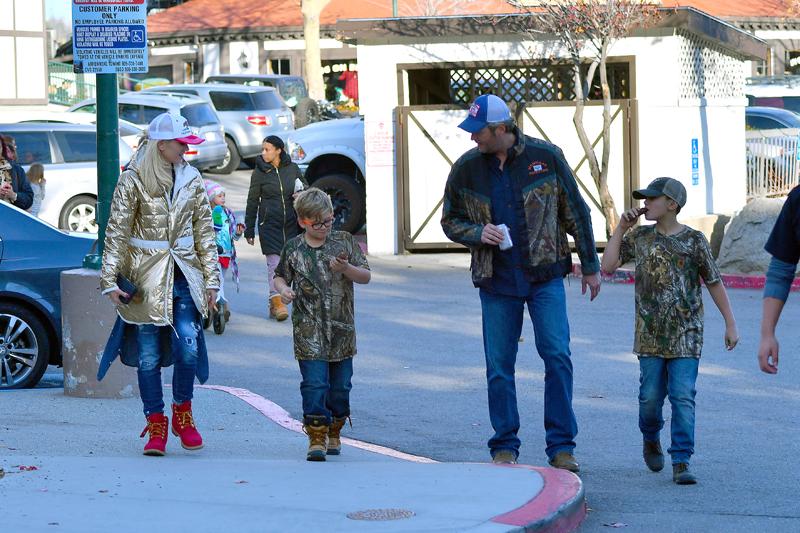
[[[236,245],[244,233],[244,224],[236,222],[233,211],[225,207],[225,189],[219,183],[204,180],[208,202],[211,204],[211,217],[214,221],[214,233],[217,238],[217,255],[219,256],[220,284],[217,295],[217,312],[211,318],[214,333],[225,331],[225,324],[230,320],[231,311],[225,299],[225,275],[233,271],[236,290],[239,290],[239,264],[236,260]]]

